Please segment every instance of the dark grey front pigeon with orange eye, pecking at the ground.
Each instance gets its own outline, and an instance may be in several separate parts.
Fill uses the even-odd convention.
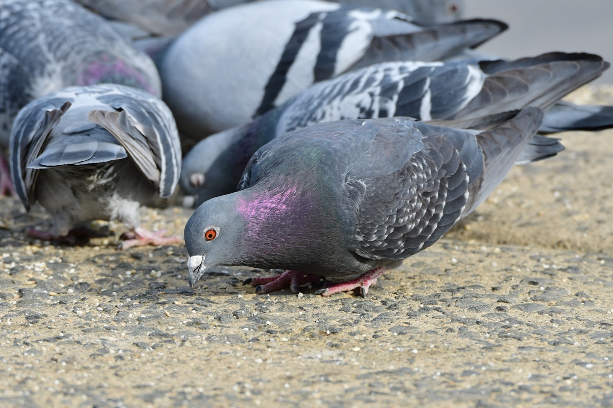
[[[287,270],[247,280],[258,294],[360,274],[316,293],[359,287],[365,295],[386,269],[473,211],[514,163],[562,150],[535,136],[542,120],[541,109],[525,108],[482,133],[394,117],[280,136],[249,160],[240,191],[189,218],[189,284],[213,266],[248,265]]]

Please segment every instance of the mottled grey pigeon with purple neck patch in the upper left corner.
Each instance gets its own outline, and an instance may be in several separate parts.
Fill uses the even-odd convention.
[[[151,59],[107,22],[69,0],[3,0],[0,149],[28,102],[67,86],[120,83],[161,96]],[[0,193],[13,190],[0,154]]]

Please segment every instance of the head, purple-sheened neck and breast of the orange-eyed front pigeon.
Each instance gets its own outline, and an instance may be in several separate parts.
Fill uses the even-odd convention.
[[[194,287],[207,269],[319,270],[338,258],[343,242],[338,201],[287,177],[211,198],[189,218],[185,245]],[[314,261],[314,259],[316,259]]]

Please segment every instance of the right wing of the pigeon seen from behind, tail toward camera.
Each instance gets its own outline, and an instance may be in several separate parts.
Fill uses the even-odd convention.
[[[168,198],[181,171],[181,146],[172,114],[166,104],[145,92],[117,88],[120,92],[97,97],[116,110],[91,111],[88,118],[115,136],[139,170],[159,188],[159,195]]]

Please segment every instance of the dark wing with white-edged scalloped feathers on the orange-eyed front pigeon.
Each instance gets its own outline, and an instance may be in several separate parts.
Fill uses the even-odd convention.
[[[356,208],[352,251],[367,259],[400,260],[432,245],[460,219],[470,174],[479,173],[482,157],[468,132],[400,118],[364,127],[369,125],[378,137],[367,154],[381,155],[386,165],[376,172],[363,166],[348,172],[345,196]],[[422,149],[395,156],[407,139],[419,141]]]

